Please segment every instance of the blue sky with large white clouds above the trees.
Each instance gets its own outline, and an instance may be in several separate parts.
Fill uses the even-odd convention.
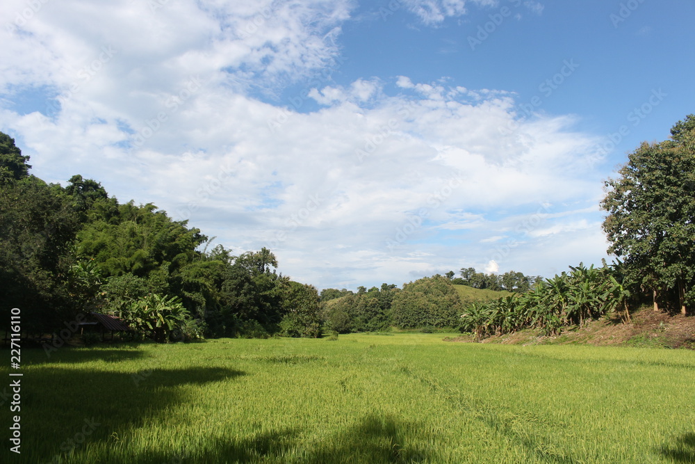
[[[695,112],[695,4],[0,6],[0,130],[32,173],[154,202],[320,289],[600,264],[598,202]],[[610,260],[610,257],[608,257]]]

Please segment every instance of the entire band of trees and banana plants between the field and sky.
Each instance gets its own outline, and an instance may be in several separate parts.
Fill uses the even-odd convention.
[[[55,333],[85,312],[113,314],[159,342],[392,327],[555,334],[606,314],[628,321],[645,301],[682,314],[695,303],[695,115],[668,141],[642,144],[605,182],[612,264],[547,279],[467,267],[357,293],[319,294],[279,273],[267,248],[234,255],[155,205],[120,203],[95,180],[47,184],[28,161],[0,133],[0,306],[6,316],[21,307],[31,334]],[[457,286],[507,293],[471,302]]]

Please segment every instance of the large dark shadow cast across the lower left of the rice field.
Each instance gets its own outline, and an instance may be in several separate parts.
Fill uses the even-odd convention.
[[[21,378],[22,401],[17,414],[21,415],[22,454],[10,453],[8,446],[3,447],[0,462],[62,462],[60,458],[73,451],[79,454],[87,442],[111,444],[127,440],[133,429],[160,415],[176,424],[181,418],[172,410],[192,401],[180,387],[244,374],[234,369],[204,367],[133,373],[84,369],[79,365],[35,369]],[[7,428],[3,436],[7,443]],[[11,460],[3,458],[3,454]]]

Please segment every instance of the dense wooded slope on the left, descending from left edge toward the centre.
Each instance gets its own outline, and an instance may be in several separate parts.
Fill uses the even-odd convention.
[[[270,250],[211,248],[152,204],[122,204],[80,175],[47,184],[29,168],[0,133],[0,327],[19,307],[35,334],[95,311],[158,341],[320,335],[318,291],[277,273]]]

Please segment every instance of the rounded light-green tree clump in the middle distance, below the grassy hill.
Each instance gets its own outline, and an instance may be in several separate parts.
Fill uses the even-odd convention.
[[[434,275],[403,285],[393,297],[392,311],[398,328],[455,327],[461,300],[447,278]]]

